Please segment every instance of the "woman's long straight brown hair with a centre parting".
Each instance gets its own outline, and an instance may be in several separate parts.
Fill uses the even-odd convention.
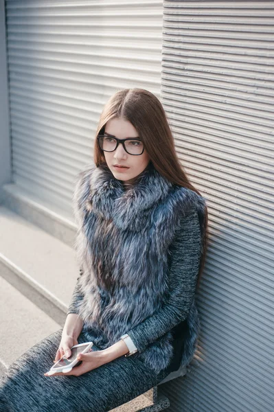
[[[104,152],[100,149],[96,138],[99,133],[104,132],[106,122],[114,117],[124,117],[133,124],[139,137],[144,141],[150,161],[161,175],[176,185],[187,187],[200,194],[190,183],[183,165],[177,157],[172,131],[161,102],[153,93],[145,89],[123,89],[117,91],[106,102],[95,133],[93,158],[96,166],[106,164]],[[203,248],[196,288],[198,288],[205,266],[208,239],[207,207],[205,207],[203,225]]]

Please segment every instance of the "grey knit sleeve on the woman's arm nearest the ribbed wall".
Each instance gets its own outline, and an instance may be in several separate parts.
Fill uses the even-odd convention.
[[[192,209],[181,219],[170,244],[168,297],[155,314],[126,332],[138,352],[186,319],[196,290],[201,240],[198,214]]]

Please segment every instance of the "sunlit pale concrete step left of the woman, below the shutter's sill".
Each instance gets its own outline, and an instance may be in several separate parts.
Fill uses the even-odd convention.
[[[79,275],[75,251],[3,206],[0,227],[3,277],[62,323]]]

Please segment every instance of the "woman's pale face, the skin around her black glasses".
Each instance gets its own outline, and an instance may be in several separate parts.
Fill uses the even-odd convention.
[[[138,137],[135,127],[123,118],[110,119],[106,122],[104,133],[113,135],[117,139],[126,139],[127,137]],[[122,144],[119,144],[114,152],[104,152],[106,164],[113,173],[113,176],[125,183],[133,183],[135,178],[146,169],[150,159],[148,152],[144,149],[141,155],[129,155]],[[115,164],[127,166],[126,168],[115,168]]]

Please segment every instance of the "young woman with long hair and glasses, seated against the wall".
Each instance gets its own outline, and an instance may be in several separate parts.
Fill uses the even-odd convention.
[[[194,355],[207,207],[176,156],[155,95],[124,89],[106,103],[94,164],[78,175],[73,209],[80,276],[65,325],[10,366],[0,411],[109,411]],[[45,374],[88,341],[92,351],[78,357],[81,365]]]

